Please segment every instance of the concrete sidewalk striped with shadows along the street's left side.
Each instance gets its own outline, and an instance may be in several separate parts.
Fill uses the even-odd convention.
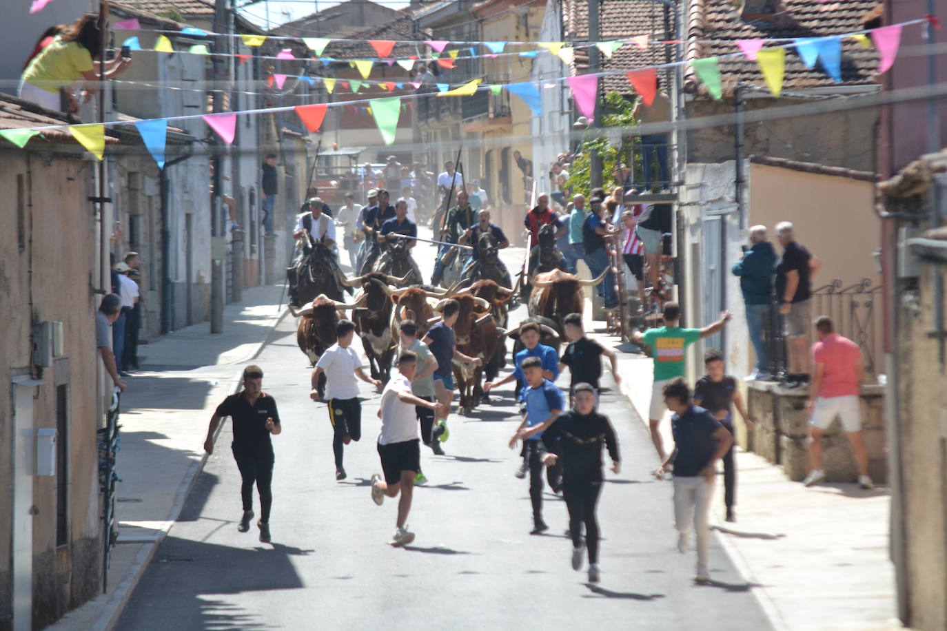
[[[244,289],[241,303],[223,309],[223,334],[195,324],[139,347],[142,370],[125,379],[118,418],[119,529],[108,589],[48,628],[105,630],[117,621],[204,466],[211,413],[288,313],[285,304],[277,309],[281,291]]]

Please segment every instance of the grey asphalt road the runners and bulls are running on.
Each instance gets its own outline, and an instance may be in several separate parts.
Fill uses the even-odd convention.
[[[429,275],[427,246],[421,248]],[[509,254],[512,261],[517,253]],[[670,482],[649,475],[651,441],[614,391],[603,391],[600,409],[616,426],[623,470],[606,474],[602,576],[592,585],[570,567],[565,505],[548,489],[551,534],[528,534],[528,483],[513,477],[519,459],[507,447],[519,420],[509,385],[491,406],[453,417],[445,456],[422,451],[430,482],[418,488],[408,520],[417,539],[393,549],[386,542],[395,502],[378,507],[369,497],[368,479],[381,471],[378,395],[363,384],[364,436],[346,448],[348,480],[336,482],[326,406],[308,397],[310,369],[292,319],[257,362],[283,418],[283,432],[273,437],[273,544],[260,543],[255,527],[237,531],[240,475],[226,424],[118,629],[771,628],[753,586],[715,537],[715,583],[693,584],[694,552],[675,549]],[[602,384],[612,385],[610,377]],[[194,422],[204,424],[209,415]]]

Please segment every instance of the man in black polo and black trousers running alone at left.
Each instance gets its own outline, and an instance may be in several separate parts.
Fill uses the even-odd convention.
[[[253,484],[256,482],[259,493],[259,540],[269,543],[270,506],[273,504],[270,482],[273,481],[274,460],[270,434],[278,434],[282,427],[279,425],[277,402],[262,391],[262,381],[263,371],[259,366],[247,366],[243,369],[243,390],[226,397],[223,403],[217,406],[214,415],[210,417],[204,450],[208,454],[213,453],[214,432],[221,424],[221,419],[229,416],[234,424],[234,442],[231,448],[243,481],[243,517],[237,530],[241,533],[250,530],[250,519],[253,518]]]

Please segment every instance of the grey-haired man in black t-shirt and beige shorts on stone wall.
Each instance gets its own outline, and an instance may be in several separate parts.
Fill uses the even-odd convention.
[[[795,240],[795,228],[789,221],[776,225],[782,257],[776,266],[776,298],[779,314],[785,318],[783,335],[789,356],[786,387],[798,388],[809,383],[809,327],[812,323],[812,277],[821,262]]]

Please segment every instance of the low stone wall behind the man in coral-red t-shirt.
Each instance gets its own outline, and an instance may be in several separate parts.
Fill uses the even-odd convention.
[[[774,382],[747,384],[747,407],[757,420],[752,448],[778,464],[793,481],[801,482],[809,471],[806,440],[809,414],[808,390],[786,389]],[[874,482],[887,481],[884,438],[884,389],[862,386],[862,429],[868,448],[868,474]],[[849,440],[836,419],[822,439],[823,469],[828,482],[853,482],[857,476]]]

